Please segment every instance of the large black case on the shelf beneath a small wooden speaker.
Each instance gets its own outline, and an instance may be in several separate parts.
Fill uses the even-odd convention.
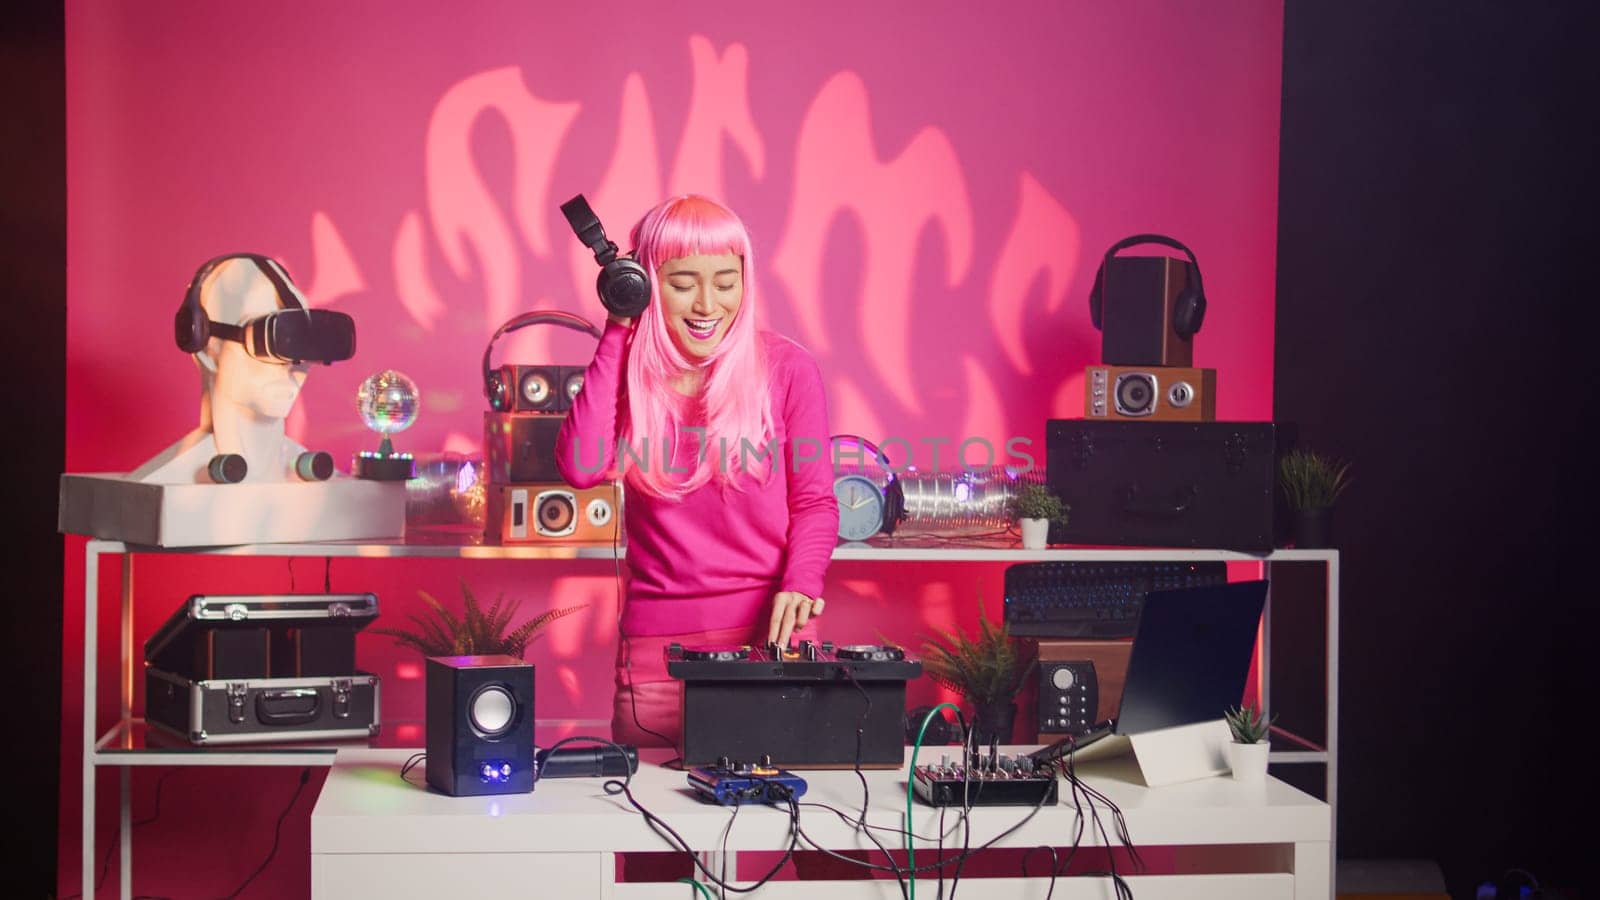
[[[1256,421],[1050,420],[1050,543],[1270,552],[1278,434]]]

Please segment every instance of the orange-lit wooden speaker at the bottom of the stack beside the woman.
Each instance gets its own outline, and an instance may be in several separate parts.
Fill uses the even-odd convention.
[[[490,484],[483,538],[499,544],[616,541],[622,485]]]

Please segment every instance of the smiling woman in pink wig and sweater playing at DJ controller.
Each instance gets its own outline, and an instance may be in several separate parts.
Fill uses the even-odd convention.
[[[821,372],[800,344],[757,330],[744,223],[682,195],[630,237],[650,306],[608,319],[555,456],[574,487],[626,485],[613,740],[674,746],[666,645],[814,639],[838,504]]]

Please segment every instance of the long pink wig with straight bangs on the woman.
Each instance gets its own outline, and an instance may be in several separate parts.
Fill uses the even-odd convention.
[[[640,314],[629,351],[627,421],[621,436],[646,463],[630,461],[627,480],[646,493],[667,498],[682,498],[710,480],[736,488],[734,476],[746,469],[765,480],[771,464],[781,458],[741,452],[742,442],[766,447],[776,434],[766,360],[755,331],[758,291],[744,223],[726,207],[688,194],[645,213],[630,237],[635,259],[650,274],[650,306]],[[682,256],[723,253],[742,261],[744,295],[722,343],[704,360],[693,360],[683,356],[667,330],[656,269]],[[674,383],[693,368],[704,370],[704,380],[696,397],[685,397]],[[706,428],[702,458],[686,476],[667,472],[662,447],[675,440],[677,428],[691,424],[690,420],[699,420],[693,424]],[[621,448],[618,461],[622,461]]]

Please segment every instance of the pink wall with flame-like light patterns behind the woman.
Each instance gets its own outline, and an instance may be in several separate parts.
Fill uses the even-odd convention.
[[[997,447],[1024,436],[1042,453],[1043,421],[1082,412],[1082,372],[1098,362],[1085,298],[1099,255],[1139,231],[1200,256],[1211,309],[1195,364],[1219,370],[1219,418],[1270,418],[1278,0],[1029,0],[1003,18],[834,2],[803,16],[613,3],[603,18],[509,2],[106,6],[66,10],[67,471],[126,471],[194,426],[198,380],[171,315],[195,266],[234,250],[277,256],[315,304],[357,320],[355,359],[314,370],[301,396],[290,423],[301,442],[344,466],[373,444],[357,384],[400,368],[421,386],[422,415],[397,444],[474,452],[494,328],[536,307],[602,317],[594,263],[557,210],[578,192],[614,237],[667,192],[736,208],[766,323],[816,354],[838,432]],[[587,344],[528,328],[496,344],[496,362],[586,362]],[[69,538],[64,892],[78,882],[80,549]],[[286,591],[288,570],[141,562],[136,644],[187,593]],[[837,564],[830,629],[912,642],[931,623],[971,623],[981,588],[997,615],[1000,570]],[[293,578],[320,586],[322,560],[294,562]],[[418,588],[454,596],[458,578],[526,596],[530,613],[592,602],[531,658],[541,717],[605,716],[608,567],[331,567],[334,589],[376,591],[394,617],[418,605]],[[107,601],[101,615],[115,617]],[[362,653],[386,679],[384,717],[419,717],[421,687],[402,677],[414,658],[376,637]],[[104,697],[112,708],[114,687]],[[293,790],[285,772],[229,775],[283,781],[283,799]],[[170,783],[208,778],[224,775]],[[136,806],[152,781],[136,778]],[[253,799],[238,814],[248,825],[227,826],[234,817],[163,806],[136,836],[136,889],[232,890],[254,850],[178,873],[162,849],[226,841],[264,854],[277,802]],[[280,850],[258,895],[306,890],[310,802],[296,807],[301,842]]]

